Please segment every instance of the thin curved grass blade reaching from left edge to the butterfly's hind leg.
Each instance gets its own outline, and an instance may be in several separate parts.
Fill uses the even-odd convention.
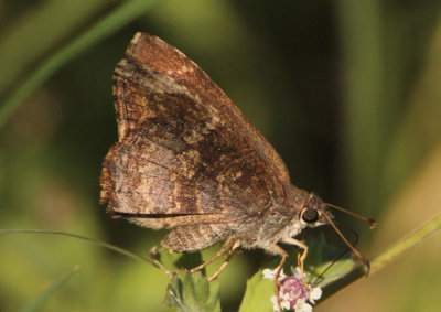
[[[50,235],[63,235],[63,236],[68,236],[68,237],[74,237],[74,238],[78,238],[78,239],[83,239],[86,241],[89,241],[92,244],[98,245],[100,247],[117,251],[121,255],[125,255],[131,259],[138,260],[138,261],[142,261],[142,262],[147,262],[150,265],[154,265],[153,261],[147,259],[147,258],[142,258],[133,252],[130,252],[126,249],[122,249],[120,247],[117,247],[115,245],[111,244],[107,244],[94,238],[89,238],[87,236],[83,236],[83,235],[78,235],[78,234],[73,234],[73,233],[66,233],[66,232],[57,232],[57,230],[43,230],[43,229],[0,229],[0,233],[19,233],[19,234],[26,234],[26,233],[31,233],[31,234],[50,234]]]

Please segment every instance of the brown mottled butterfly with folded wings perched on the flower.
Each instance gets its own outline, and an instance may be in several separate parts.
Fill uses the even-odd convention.
[[[303,266],[308,246],[294,237],[334,227],[329,205],[291,184],[271,144],[182,52],[137,33],[126,56],[114,73],[118,142],[103,164],[100,203],[140,226],[170,228],[162,246],[174,252],[225,241],[192,271],[260,248],[281,257],[280,272],[288,254],[279,243],[302,248]]]

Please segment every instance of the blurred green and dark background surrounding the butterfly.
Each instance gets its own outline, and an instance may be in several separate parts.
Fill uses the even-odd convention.
[[[117,139],[111,73],[142,31],[219,84],[295,185],[376,218],[369,233],[338,215],[375,257],[440,212],[440,9],[434,0],[0,0],[0,228],[76,233],[142,256],[159,244],[164,233],[98,205],[101,160]],[[161,271],[96,245],[2,233],[0,250],[0,311],[25,306],[76,265],[42,311],[169,311]],[[265,259],[234,257],[220,276],[225,311]],[[439,311],[440,262],[438,234],[316,310]]]

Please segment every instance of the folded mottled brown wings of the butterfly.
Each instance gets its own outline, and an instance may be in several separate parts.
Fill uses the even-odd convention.
[[[150,215],[133,220],[153,228],[225,223],[284,196],[282,160],[197,65],[141,33],[127,57],[114,74],[119,142],[101,174],[110,212]]]

